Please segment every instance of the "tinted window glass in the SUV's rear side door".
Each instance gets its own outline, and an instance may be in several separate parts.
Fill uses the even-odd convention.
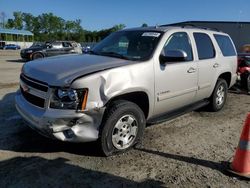
[[[194,39],[199,59],[210,59],[215,57],[215,50],[210,37],[205,33],[194,33]]]

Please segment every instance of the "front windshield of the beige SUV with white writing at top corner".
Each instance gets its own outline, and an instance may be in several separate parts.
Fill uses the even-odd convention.
[[[91,52],[134,61],[146,60],[152,56],[161,34],[155,31],[115,32],[97,44]]]

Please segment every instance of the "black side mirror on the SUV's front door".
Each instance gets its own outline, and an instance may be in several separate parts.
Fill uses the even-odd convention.
[[[160,63],[166,62],[181,62],[187,60],[187,53],[183,50],[167,50],[160,55]]]

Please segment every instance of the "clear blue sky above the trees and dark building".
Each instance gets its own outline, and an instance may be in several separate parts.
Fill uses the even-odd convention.
[[[65,20],[81,19],[86,30],[125,24],[150,26],[182,21],[250,21],[249,0],[0,0],[0,12],[35,16],[52,12]]]

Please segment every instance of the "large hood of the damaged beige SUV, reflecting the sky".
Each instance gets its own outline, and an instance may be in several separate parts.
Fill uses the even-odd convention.
[[[63,87],[86,74],[134,63],[136,62],[89,54],[63,55],[27,62],[22,73],[50,86]]]

